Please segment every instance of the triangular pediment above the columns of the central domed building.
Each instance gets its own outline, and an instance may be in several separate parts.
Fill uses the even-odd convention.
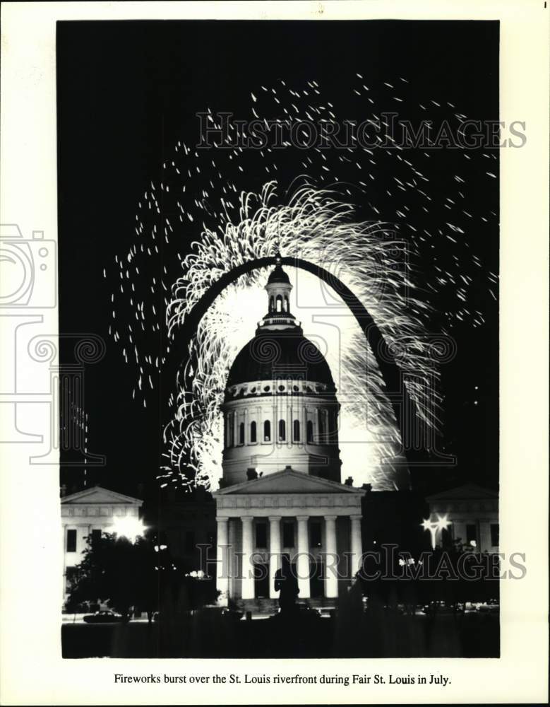
[[[350,493],[363,496],[364,489],[354,489],[353,486],[337,484],[309,474],[295,472],[293,469],[283,469],[282,472],[268,474],[253,481],[244,481],[242,484],[227,486],[225,489],[215,491],[213,496],[232,496],[241,494],[266,494],[266,493]]]

